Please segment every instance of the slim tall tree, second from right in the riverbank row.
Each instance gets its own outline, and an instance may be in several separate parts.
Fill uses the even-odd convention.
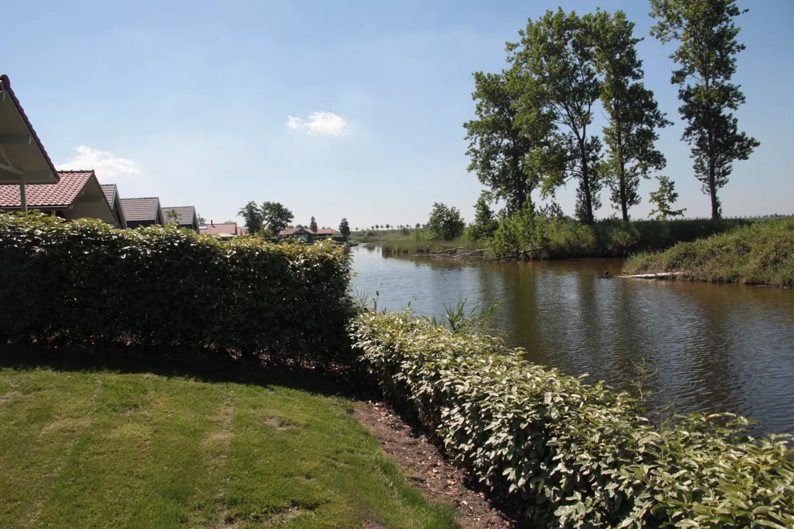
[[[614,16],[597,11],[582,19],[592,29],[595,69],[603,75],[601,103],[608,125],[603,128],[607,160],[602,175],[611,187],[615,209],[628,222],[629,207],[641,202],[640,177],[648,179],[651,169],[667,164],[654,146],[659,139],[656,129],[673,123],[659,110],[653,91],[640,82],[645,74],[636,44],[642,39],[634,37],[634,22],[622,11]]]

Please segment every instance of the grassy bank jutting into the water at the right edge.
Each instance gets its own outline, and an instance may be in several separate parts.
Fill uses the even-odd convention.
[[[794,286],[794,219],[757,222],[626,261],[627,274],[683,272],[682,279]]]

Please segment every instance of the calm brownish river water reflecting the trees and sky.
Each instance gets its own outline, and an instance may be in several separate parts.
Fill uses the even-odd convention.
[[[379,291],[379,309],[410,302],[442,315],[458,295],[497,300],[495,326],[530,361],[629,389],[644,354],[656,404],[676,398],[678,411],[732,411],[757,431],[794,433],[794,290],[622,280],[619,259],[460,264],[368,245],[353,259],[353,287]]]

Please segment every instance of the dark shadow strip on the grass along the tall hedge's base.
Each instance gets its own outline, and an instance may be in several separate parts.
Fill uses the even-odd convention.
[[[325,396],[368,400],[376,388],[349,369],[315,369],[310,366],[266,364],[239,360],[220,353],[143,349],[139,346],[52,347],[11,342],[0,346],[0,368],[52,369],[63,372],[109,371],[180,376],[202,382],[233,382],[264,388],[279,386]]]

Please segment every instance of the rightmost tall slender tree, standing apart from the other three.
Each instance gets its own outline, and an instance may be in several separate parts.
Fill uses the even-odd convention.
[[[747,160],[761,145],[738,131],[730,112],[745,102],[730,79],[736,55],[745,48],[736,40],[740,28],[734,18],[747,10],[735,0],[650,0],[650,5],[650,15],[658,19],[651,35],[663,44],[680,43],[670,55],[680,65],[670,82],[679,85],[678,111],[688,124],[681,139],[692,145],[695,176],[711,197],[711,218],[719,218],[717,190],[728,183],[734,160]]]

